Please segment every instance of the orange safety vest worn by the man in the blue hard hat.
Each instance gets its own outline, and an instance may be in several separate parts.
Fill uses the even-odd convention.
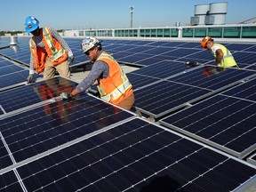
[[[52,65],[56,66],[68,59],[68,52],[62,47],[62,45],[52,37],[50,28],[45,27],[41,30],[41,36],[43,38],[44,48],[36,46],[36,36],[30,39],[29,47],[34,56],[34,69],[36,73],[40,74],[44,71],[45,60],[48,56],[52,62]]]

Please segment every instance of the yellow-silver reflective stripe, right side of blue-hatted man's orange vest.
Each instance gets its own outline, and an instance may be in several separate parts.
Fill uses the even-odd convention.
[[[48,28],[43,28],[43,33],[44,33],[46,44],[52,51],[51,60],[58,60],[66,52],[66,50],[63,47],[61,47],[59,51],[56,49],[56,47],[53,44],[52,36],[50,36]]]

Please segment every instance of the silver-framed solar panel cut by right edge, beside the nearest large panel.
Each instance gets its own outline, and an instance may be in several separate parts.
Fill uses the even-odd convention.
[[[178,132],[244,158],[256,149],[256,103],[217,95],[160,120]]]

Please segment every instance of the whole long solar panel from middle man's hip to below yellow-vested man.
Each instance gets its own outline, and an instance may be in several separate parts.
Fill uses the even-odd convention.
[[[142,114],[159,118],[255,76],[253,71],[228,68],[206,77],[201,67],[136,90],[135,108]]]

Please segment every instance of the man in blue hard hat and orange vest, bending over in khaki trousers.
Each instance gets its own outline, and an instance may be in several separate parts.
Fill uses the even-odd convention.
[[[44,79],[54,77],[56,70],[60,76],[70,78],[69,62],[74,61],[73,52],[59,33],[50,27],[39,28],[39,21],[28,16],[25,29],[33,36],[29,40],[30,68],[28,83],[33,81],[34,69],[37,74],[44,72]]]

